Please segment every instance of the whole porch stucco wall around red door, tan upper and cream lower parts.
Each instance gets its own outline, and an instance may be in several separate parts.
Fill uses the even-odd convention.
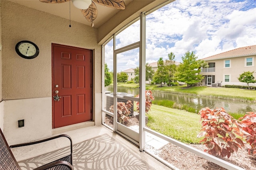
[[[20,142],[44,138],[52,133],[49,130],[52,128],[51,43],[93,49],[93,100],[101,101],[102,49],[97,43],[97,29],[77,22],[71,22],[70,28],[69,20],[10,1],[1,1],[1,24],[2,97],[5,101],[2,105],[8,109],[4,108],[0,115],[4,117],[4,133],[11,143],[14,142],[11,133],[29,134],[22,136]],[[16,53],[15,45],[22,40],[38,45],[38,57],[24,59]],[[94,109],[94,101],[94,121],[98,125],[101,123],[101,109]],[[44,107],[39,107],[40,103]],[[101,108],[100,105],[101,102],[97,103],[97,108]],[[33,109],[36,108],[39,109],[35,113]],[[25,127],[18,128],[17,121],[25,118]],[[32,121],[40,121],[40,124],[35,125]],[[46,133],[35,134],[36,130],[41,132],[42,129],[47,130]]]

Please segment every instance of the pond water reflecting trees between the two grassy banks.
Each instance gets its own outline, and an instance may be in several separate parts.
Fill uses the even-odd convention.
[[[113,87],[106,87],[107,91],[113,92]],[[134,96],[139,94],[139,89],[129,89],[124,87],[118,87],[118,92],[129,93]],[[200,96],[191,95],[180,95],[166,92],[154,92],[153,96],[155,100],[170,100],[176,103],[187,104],[198,110],[209,107],[210,109],[215,109],[216,107],[223,107],[227,112],[232,113],[245,113],[256,111],[256,103],[242,103],[237,101],[230,101],[224,99],[213,99]]]

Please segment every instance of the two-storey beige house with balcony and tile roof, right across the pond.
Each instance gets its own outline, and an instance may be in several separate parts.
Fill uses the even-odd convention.
[[[204,75],[203,85],[246,85],[238,81],[239,75],[244,71],[253,71],[256,77],[256,45],[236,48],[203,60],[209,65],[208,68],[201,69],[200,74]],[[256,83],[250,85],[255,86]]]

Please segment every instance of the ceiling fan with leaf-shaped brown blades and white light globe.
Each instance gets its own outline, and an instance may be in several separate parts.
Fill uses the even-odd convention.
[[[125,9],[124,0],[39,0],[40,2],[56,4],[72,1],[76,8],[79,8],[89,22],[93,22],[98,15],[96,4],[116,8],[119,10]],[[96,3],[96,4],[95,4]],[[92,23],[92,27],[94,24]]]

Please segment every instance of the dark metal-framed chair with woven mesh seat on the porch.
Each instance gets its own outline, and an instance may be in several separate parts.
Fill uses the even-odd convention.
[[[54,136],[51,138],[38,140],[35,142],[29,142],[24,144],[16,144],[9,146],[4,134],[2,133],[2,130],[0,128],[0,170],[21,170],[20,166],[18,165],[18,162],[14,158],[14,155],[12,154],[12,151],[10,148],[16,148],[20,146],[28,146],[31,144],[38,144],[41,142],[46,142],[48,140],[53,140],[60,137],[66,137],[70,140],[70,155],[64,156],[63,158],[60,158],[58,160],[55,160],[53,162],[50,162],[48,164],[42,165],[38,168],[35,168],[34,170],[73,170],[72,166],[72,139],[70,136],[61,134],[58,136]]]

